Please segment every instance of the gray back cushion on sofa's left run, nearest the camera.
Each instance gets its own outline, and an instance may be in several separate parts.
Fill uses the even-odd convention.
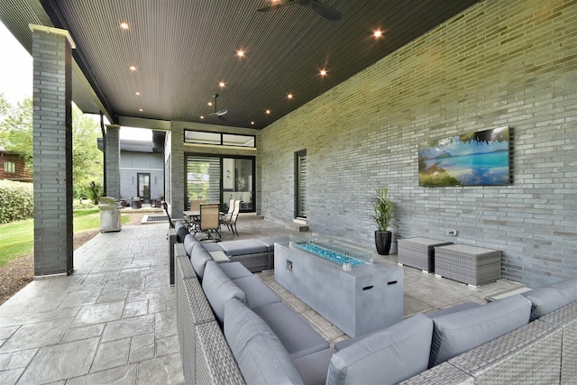
[[[224,336],[247,384],[304,383],[269,325],[236,299],[224,307]]]

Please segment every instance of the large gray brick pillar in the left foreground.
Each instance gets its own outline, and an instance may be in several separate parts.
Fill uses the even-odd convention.
[[[72,72],[67,31],[31,25],[34,151],[34,276],[70,274]]]

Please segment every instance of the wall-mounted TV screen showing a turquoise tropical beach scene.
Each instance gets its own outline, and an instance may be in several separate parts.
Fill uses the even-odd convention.
[[[418,145],[419,186],[499,186],[509,180],[508,127]]]

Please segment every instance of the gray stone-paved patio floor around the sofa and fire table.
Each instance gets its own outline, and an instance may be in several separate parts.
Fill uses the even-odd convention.
[[[240,236],[295,234],[267,220],[243,218]],[[169,284],[168,225],[124,226],[98,234],[74,253],[68,277],[34,280],[0,307],[0,383],[184,383]],[[376,255],[375,255],[376,256]],[[397,256],[380,257],[397,263]],[[404,268],[405,316],[485,298],[520,285],[499,280],[479,289]],[[277,291],[330,343],[348,338],[274,282]]]

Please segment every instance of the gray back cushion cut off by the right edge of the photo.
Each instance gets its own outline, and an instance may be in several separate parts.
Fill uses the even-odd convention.
[[[531,320],[577,301],[577,279],[562,280],[522,293],[531,301]]]

